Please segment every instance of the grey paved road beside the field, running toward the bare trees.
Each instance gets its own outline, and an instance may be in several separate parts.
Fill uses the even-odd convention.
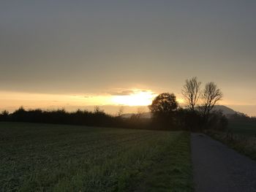
[[[192,134],[195,192],[256,191],[256,161],[204,134]]]

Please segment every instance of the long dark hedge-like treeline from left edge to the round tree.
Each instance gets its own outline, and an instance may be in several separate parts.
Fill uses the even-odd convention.
[[[9,113],[6,110],[0,113],[0,121],[26,122],[26,123],[53,123],[78,126],[101,126],[116,128],[138,128],[156,129],[159,126],[152,126],[151,119],[141,118],[140,113],[130,118],[122,118],[122,114],[109,115],[95,107],[94,111],[77,110],[67,112],[61,110],[25,110],[20,107],[15,112]]]

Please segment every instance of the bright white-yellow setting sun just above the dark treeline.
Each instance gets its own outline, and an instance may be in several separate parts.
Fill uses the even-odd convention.
[[[147,106],[156,96],[152,91],[135,91],[127,96],[113,96],[113,103],[127,106]]]

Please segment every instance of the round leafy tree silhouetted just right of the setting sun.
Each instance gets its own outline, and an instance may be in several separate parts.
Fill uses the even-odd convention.
[[[149,106],[154,118],[173,118],[178,108],[176,96],[173,93],[161,93]]]

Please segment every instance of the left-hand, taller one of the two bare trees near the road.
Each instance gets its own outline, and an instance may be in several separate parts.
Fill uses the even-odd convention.
[[[200,86],[201,82],[197,81],[197,77],[192,77],[190,80],[186,80],[186,84],[181,91],[187,107],[193,112],[195,111],[195,106],[200,98]]]

